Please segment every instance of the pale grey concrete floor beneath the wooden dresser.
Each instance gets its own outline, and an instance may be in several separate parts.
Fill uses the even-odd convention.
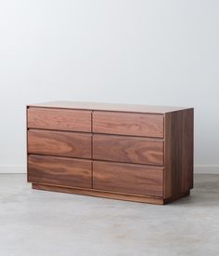
[[[219,175],[187,198],[153,206],[36,191],[0,175],[0,256],[219,255]]]

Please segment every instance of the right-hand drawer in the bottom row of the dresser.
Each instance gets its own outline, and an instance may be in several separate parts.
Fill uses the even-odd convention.
[[[162,196],[163,169],[94,162],[93,188],[135,195]]]

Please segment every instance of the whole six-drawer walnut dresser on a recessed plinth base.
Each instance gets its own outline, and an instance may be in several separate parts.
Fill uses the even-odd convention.
[[[193,108],[28,105],[27,155],[34,189],[162,205],[193,187]]]

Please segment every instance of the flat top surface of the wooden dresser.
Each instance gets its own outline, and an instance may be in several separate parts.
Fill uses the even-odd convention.
[[[134,113],[152,113],[152,114],[165,114],[169,112],[188,109],[187,107],[100,103],[100,102],[83,102],[83,101],[50,101],[50,102],[43,102],[43,103],[28,104],[28,107],[64,108],[64,109],[99,110],[99,111],[102,110],[102,111],[119,111],[119,112],[134,112]]]

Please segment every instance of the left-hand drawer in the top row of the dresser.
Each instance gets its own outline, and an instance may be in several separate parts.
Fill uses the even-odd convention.
[[[28,128],[91,132],[91,111],[31,107]]]

